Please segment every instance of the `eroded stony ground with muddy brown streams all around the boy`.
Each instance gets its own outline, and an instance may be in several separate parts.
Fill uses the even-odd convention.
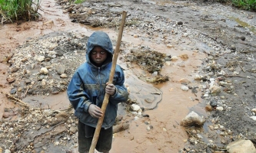
[[[185,1],[44,1],[42,8],[39,21],[0,29],[3,151],[77,152],[77,119],[65,87],[93,31],[107,32],[115,45],[121,11],[128,18],[118,63],[131,101],[146,109],[141,116],[120,104],[118,124],[128,122],[129,129],[115,133],[111,152],[224,152],[238,138],[255,144],[254,12]],[[165,54],[164,64],[131,60],[151,51]],[[167,82],[151,84],[163,76]],[[213,93],[211,83],[221,90]],[[222,109],[206,111],[212,103]],[[189,111],[204,116],[203,127],[180,125]]]

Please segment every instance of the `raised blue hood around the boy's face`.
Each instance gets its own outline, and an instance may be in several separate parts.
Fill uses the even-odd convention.
[[[86,61],[88,63],[91,63],[89,54],[95,46],[102,47],[104,50],[108,51],[108,57],[105,60],[105,63],[103,63],[103,66],[106,65],[107,63],[111,63],[112,57],[113,57],[113,54],[114,54],[114,50],[113,50],[113,45],[111,43],[111,40],[108,37],[108,34],[106,34],[105,32],[102,32],[102,31],[95,31],[88,38],[88,43],[87,43],[87,47],[86,47],[87,50],[86,50],[86,55],[85,55],[86,56]]]

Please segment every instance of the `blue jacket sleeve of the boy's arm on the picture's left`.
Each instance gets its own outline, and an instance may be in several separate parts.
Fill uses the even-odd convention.
[[[88,94],[85,93],[83,81],[81,80],[78,71],[76,71],[71,78],[71,81],[68,84],[67,93],[68,99],[75,111],[88,112],[88,107],[91,105],[91,101],[88,99]]]

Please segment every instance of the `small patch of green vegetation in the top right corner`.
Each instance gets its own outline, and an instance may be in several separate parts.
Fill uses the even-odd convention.
[[[238,8],[256,11],[256,0],[232,0],[232,4]]]

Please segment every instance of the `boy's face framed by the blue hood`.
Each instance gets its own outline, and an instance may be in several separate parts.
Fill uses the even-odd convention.
[[[96,67],[101,67],[102,63],[107,59],[108,53],[101,47],[94,47],[91,50],[90,57]]]

